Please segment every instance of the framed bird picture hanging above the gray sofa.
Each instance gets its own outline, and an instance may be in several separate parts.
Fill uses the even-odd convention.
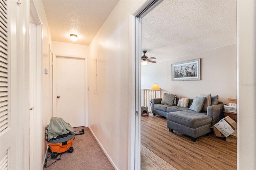
[[[201,80],[200,59],[172,64],[172,81]]]

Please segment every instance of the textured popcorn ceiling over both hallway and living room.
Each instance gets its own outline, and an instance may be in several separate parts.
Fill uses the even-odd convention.
[[[117,3],[118,0],[43,0],[52,41],[89,45]],[[78,35],[78,41],[71,41],[70,34]],[[146,56],[156,57],[153,61],[234,43],[235,0],[163,0],[142,18],[142,50],[147,50]]]

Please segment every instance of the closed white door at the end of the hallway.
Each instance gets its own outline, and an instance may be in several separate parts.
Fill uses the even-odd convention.
[[[56,117],[84,126],[85,60],[56,57]]]

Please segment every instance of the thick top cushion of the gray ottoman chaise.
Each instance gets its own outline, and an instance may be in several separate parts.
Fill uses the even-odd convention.
[[[166,119],[190,128],[197,128],[212,123],[212,117],[192,110],[167,113]]]

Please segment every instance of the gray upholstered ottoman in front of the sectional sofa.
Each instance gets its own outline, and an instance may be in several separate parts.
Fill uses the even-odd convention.
[[[167,113],[167,127],[169,131],[179,131],[191,137],[193,142],[197,137],[211,132],[212,117],[206,113],[192,110],[175,111]]]

